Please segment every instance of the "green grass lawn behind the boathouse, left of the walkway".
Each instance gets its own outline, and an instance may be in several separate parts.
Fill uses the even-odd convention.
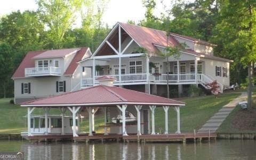
[[[198,130],[200,127],[216,113],[222,106],[226,105],[229,101],[236,98],[239,93],[220,94],[217,99],[213,95],[204,97],[183,99],[186,106],[180,109],[181,119],[181,132],[193,132],[194,129]],[[11,105],[11,99],[0,99],[0,133],[20,133],[26,131],[27,119],[23,116],[27,115],[27,108],[20,107],[20,105]],[[67,111],[67,113],[69,113]],[[44,114],[42,109],[36,108],[33,115]],[[59,109],[51,109],[50,115],[60,114]],[[169,131],[175,132],[177,129],[176,112],[169,108]],[[104,124],[102,115],[95,115],[95,131],[103,132],[103,128],[99,127]],[[155,111],[155,130],[156,132],[163,132],[164,130],[164,110],[157,108]],[[81,131],[89,131],[89,122],[84,119],[81,123]]]

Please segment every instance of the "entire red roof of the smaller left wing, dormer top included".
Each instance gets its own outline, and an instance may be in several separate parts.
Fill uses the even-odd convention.
[[[78,50],[78,52],[76,52],[76,50]],[[78,64],[78,61],[81,61],[84,58],[85,53],[87,52],[87,50],[89,50],[88,47],[82,47],[82,48],[77,48],[77,49],[63,49],[64,53],[61,53],[62,50],[49,50],[48,51],[29,51],[25,58],[21,61],[19,67],[15,70],[15,73],[13,74],[12,78],[22,78],[25,77],[25,68],[33,68],[35,67],[35,57],[43,57],[41,54],[43,54],[44,56],[46,55],[47,58],[50,58],[49,53],[52,54],[57,54],[57,55],[51,55],[51,58],[54,57],[58,57],[61,55],[61,57],[65,57],[65,55],[68,54],[73,54],[72,52],[74,52],[74,54],[76,54],[73,58],[73,60],[70,62],[68,68],[66,69],[64,75],[72,75],[74,73],[74,71],[76,70]],[[52,52],[53,51],[53,52]],[[45,54],[47,53],[47,54]],[[46,58],[46,57],[45,57]]]

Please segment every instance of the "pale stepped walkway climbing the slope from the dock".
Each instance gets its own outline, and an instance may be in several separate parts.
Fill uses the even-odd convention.
[[[223,106],[218,113],[212,116],[209,121],[207,121],[201,129],[198,130],[198,133],[208,133],[215,132],[221,125],[221,123],[226,119],[229,113],[238,105],[240,101],[247,98],[247,93],[243,92],[239,97],[235,98],[233,101],[229,102],[227,105]]]

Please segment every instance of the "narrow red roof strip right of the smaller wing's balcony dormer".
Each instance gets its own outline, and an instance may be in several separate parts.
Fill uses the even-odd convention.
[[[64,75],[72,75],[75,72],[75,70],[78,66],[77,62],[81,61],[83,59],[84,54],[87,52],[88,49],[89,49],[89,47],[83,47],[83,48],[81,48],[81,50],[79,50],[76,53],[75,57],[73,58],[73,60],[69,64],[68,68],[66,69]]]

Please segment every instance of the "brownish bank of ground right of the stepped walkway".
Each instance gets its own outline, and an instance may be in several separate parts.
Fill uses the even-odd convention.
[[[242,110],[236,106],[223,121],[217,132],[219,133],[256,133],[256,94],[253,94],[252,110]]]

